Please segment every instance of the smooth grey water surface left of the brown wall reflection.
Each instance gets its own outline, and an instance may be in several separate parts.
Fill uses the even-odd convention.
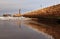
[[[0,39],[52,39],[24,25],[20,20],[0,20]]]

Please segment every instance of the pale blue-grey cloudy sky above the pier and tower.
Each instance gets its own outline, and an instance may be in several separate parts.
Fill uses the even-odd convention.
[[[41,9],[44,7],[60,4],[60,0],[0,0],[0,14],[18,13]]]

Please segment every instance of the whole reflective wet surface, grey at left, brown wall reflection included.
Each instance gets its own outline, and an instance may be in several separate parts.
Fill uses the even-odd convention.
[[[0,20],[0,39],[60,39],[59,28],[59,24],[31,19]]]

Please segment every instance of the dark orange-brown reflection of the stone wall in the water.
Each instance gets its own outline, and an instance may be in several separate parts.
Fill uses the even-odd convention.
[[[54,39],[60,39],[60,24],[55,22],[47,22],[47,21],[25,21],[25,25],[28,25],[32,28],[37,29],[38,31],[42,31],[54,37]]]

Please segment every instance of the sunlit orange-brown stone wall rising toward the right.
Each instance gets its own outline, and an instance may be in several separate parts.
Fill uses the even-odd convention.
[[[36,11],[27,12],[23,14],[24,17],[31,18],[59,18],[60,19],[60,4],[43,8]]]

